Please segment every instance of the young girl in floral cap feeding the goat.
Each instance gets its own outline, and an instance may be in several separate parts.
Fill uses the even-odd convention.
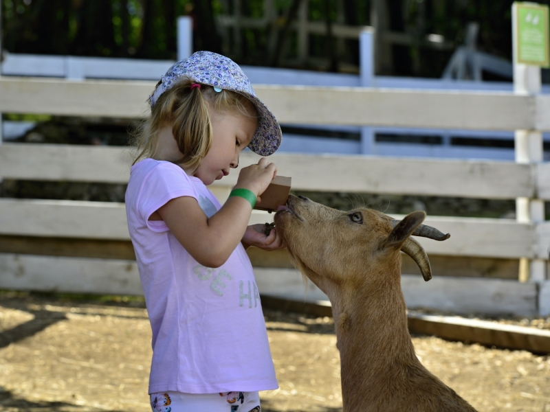
[[[153,330],[153,411],[259,412],[276,389],[258,288],[245,249],[284,247],[247,227],[277,169],[241,169],[223,205],[206,186],[245,147],[281,144],[274,115],[232,60],[197,52],[171,67],[150,98],[126,190],[126,214]]]

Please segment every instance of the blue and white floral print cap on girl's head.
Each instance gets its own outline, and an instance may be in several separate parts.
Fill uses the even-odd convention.
[[[170,89],[181,77],[212,87],[236,91],[245,95],[256,106],[258,128],[248,145],[252,152],[269,156],[281,145],[282,133],[277,119],[270,109],[256,98],[250,80],[233,60],[212,52],[195,52],[188,58],[179,60],[162,76],[161,84],[149,99],[151,107],[155,105],[159,96]]]

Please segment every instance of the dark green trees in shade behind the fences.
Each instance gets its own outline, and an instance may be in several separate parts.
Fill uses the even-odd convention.
[[[242,64],[334,69],[333,64],[318,64],[319,59],[328,59],[357,67],[358,41],[345,40],[344,47],[340,42],[338,48],[336,39],[317,34],[309,36],[308,54],[313,60],[293,63],[298,55],[298,38],[294,30],[285,31],[284,27],[289,10],[297,1],[273,0],[274,20],[265,26],[242,28],[236,36],[233,28],[221,30],[215,23],[221,14],[234,14],[234,0],[4,0],[2,45],[14,53],[174,59],[175,19],[189,14],[195,19],[195,49],[223,52]],[[310,21],[371,24],[373,0],[303,1],[307,1]],[[549,4],[550,0],[538,2]],[[459,46],[467,23],[475,21],[480,24],[478,47],[510,59],[511,3],[511,0],[386,0],[388,30],[419,39],[439,34]],[[261,19],[265,4],[264,0],[241,1],[241,15]],[[239,44],[236,38],[241,38]],[[282,58],[277,58],[277,53],[282,53]],[[439,77],[452,49],[393,45],[391,54],[393,68],[388,74]]]

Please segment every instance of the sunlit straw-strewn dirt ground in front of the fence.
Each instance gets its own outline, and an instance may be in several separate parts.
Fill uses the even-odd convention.
[[[264,412],[341,411],[330,318],[265,310],[280,389]],[[141,301],[0,293],[0,411],[151,411]],[[479,411],[550,412],[550,357],[413,336],[428,369]]]

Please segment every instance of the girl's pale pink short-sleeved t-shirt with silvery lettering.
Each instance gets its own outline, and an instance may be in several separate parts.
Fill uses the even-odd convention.
[[[148,220],[180,196],[197,199],[208,217],[221,207],[199,179],[173,163],[146,159],[132,166],[126,216],[153,330],[149,393],[276,389],[258,288],[243,246],[219,268],[207,268],[162,220]]]

